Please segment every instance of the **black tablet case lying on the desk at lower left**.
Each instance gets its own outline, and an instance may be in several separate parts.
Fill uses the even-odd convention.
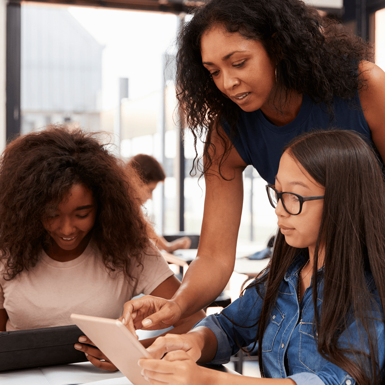
[[[84,333],[76,326],[0,332],[0,372],[87,361],[74,348]]]

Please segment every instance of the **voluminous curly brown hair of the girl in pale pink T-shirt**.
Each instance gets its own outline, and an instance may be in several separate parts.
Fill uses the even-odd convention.
[[[138,176],[125,171],[95,135],[51,126],[6,147],[0,161],[0,253],[7,280],[35,266],[50,239],[42,220],[78,183],[97,202],[92,240],[105,266],[131,277],[132,258],[141,264],[149,241]]]

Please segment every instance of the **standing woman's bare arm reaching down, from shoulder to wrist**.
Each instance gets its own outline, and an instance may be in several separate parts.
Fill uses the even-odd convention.
[[[221,165],[222,175],[231,180],[224,180],[219,175],[218,160],[223,154],[223,145],[214,133],[212,142],[217,154],[205,177],[206,195],[197,257],[173,297],[184,315],[215,300],[228,283],[235,263],[243,204],[242,172],[247,165],[232,147]]]

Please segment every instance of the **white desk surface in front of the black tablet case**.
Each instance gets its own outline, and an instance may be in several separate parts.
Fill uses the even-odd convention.
[[[0,383],[1,385],[78,385],[101,380],[114,380],[122,376],[123,373],[119,370],[107,372],[107,370],[95,367],[90,362],[81,362],[0,372]]]

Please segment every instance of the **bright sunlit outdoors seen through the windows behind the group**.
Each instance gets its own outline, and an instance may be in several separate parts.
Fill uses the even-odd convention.
[[[164,206],[158,186],[146,209],[157,231],[164,234],[179,230],[179,119],[174,82],[165,79],[164,73],[167,77],[167,67],[172,67],[180,23],[179,16],[171,14],[22,5],[22,132],[65,122],[109,132],[124,158],[144,153],[163,160],[167,175]],[[121,78],[128,83],[122,98]],[[165,159],[161,154],[163,125]],[[201,151],[198,146],[199,154]],[[189,175],[195,156],[189,132],[185,132],[184,156],[184,229],[199,234],[204,179],[198,184],[199,172]],[[251,166],[244,176],[239,240],[263,248],[276,230],[276,217],[267,201],[266,182]]]

